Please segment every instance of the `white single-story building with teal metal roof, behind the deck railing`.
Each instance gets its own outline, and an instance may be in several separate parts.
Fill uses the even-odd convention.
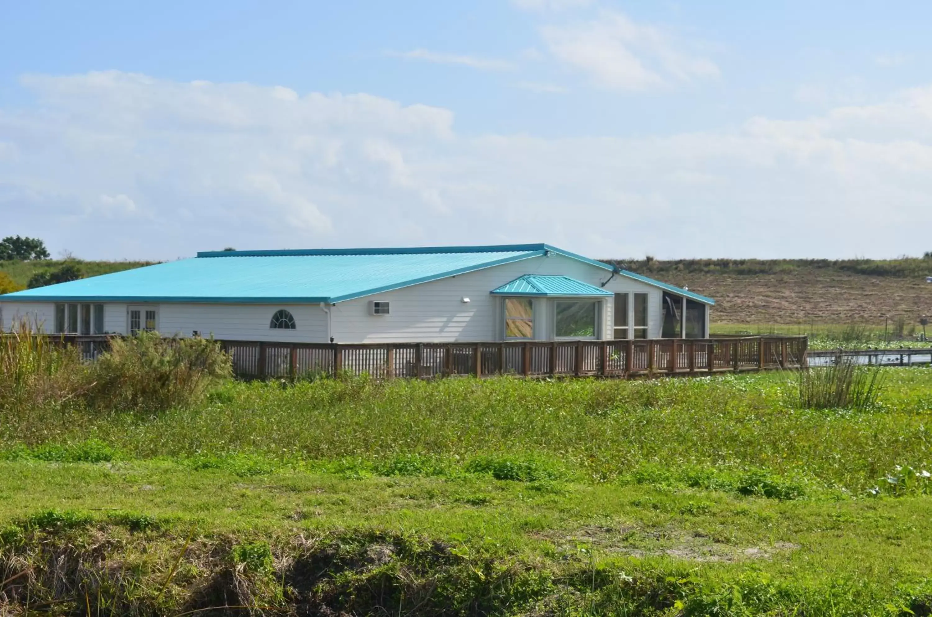
[[[546,244],[237,250],[6,294],[0,326],[266,342],[701,339],[714,303]]]

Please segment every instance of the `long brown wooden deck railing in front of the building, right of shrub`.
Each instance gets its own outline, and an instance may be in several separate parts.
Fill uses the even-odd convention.
[[[376,379],[473,375],[636,377],[798,369],[806,337],[559,342],[286,343],[222,341],[245,378],[314,373]]]

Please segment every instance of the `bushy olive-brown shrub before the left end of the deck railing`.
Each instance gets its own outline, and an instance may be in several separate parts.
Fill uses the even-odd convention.
[[[233,374],[230,356],[212,339],[162,339],[158,332],[113,339],[91,371],[95,407],[149,411],[197,404]]]

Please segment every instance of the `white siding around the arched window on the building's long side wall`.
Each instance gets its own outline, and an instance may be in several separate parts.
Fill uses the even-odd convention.
[[[279,309],[294,315],[295,329],[268,327]],[[328,342],[327,314],[320,304],[158,304],[159,332],[191,336],[194,330],[226,341]]]

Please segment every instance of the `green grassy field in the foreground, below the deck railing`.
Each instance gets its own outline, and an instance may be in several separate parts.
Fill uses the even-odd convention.
[[[932,369],[882,376],[859,411],[803,409],[781,373],[18,409],[7,609],[928,614]]]

